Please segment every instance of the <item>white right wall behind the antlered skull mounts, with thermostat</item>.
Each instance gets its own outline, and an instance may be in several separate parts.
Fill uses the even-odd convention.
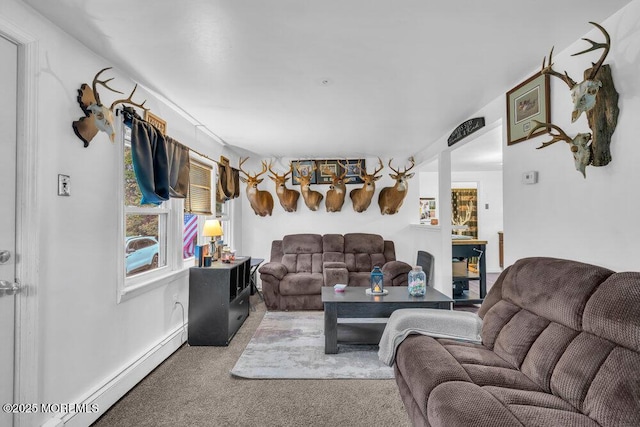
[[[618,127],[611,142],[613,160],[608,166],[588,167],[585,179],[574,169],[564,142],[535,150],[549,138],[539,137],[504,149],[506,265],[522,257],[544,255],[618,271],[638,270],[632,244],[640,237],[640,229],[634,224],[640,209],[639,20],[640,1],[634,1],[600,23],[611,35],[611,52],[605,63],[611,65],[620,94]],[[585,23],[585,31],[589,27]],[[603,38],[597,30],[585,36],[597,41]],[[577,57],[569,54],[586,47],[587,42],[578,40],[554,54],[554,69],[566,69],[574,80],[580,80],[600,51]],[[551,80],[551,114],[552,122],[571,136],[589,131],[584,115],[571,123],[569,91],[557,78]],[[521,184],[522,173],[531,170],[539,172],[539,183]]]

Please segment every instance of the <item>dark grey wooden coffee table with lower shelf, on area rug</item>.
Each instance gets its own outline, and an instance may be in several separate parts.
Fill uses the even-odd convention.
[[[338,352],[338,340],[353,344],[378,344],[385,323],[348,323],[345,318],[388,318],[400,308],[440,308],[450,310],[453,300],[445,294],[427,287],[423,297],[412,297],[406,286],[388,287],[387,295],[367,295],[365,287],[347,286],[344,292],[332,287],[322,288],[324,304],[324,352]],[[340,331],[340,326],[343,330]]]

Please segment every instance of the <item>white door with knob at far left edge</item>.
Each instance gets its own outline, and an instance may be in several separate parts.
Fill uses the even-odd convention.
[[[18,47],[0,36],[0,404],[13,403],[14,389],[17,69]],[[12,424],[0,410],[0,426]]]

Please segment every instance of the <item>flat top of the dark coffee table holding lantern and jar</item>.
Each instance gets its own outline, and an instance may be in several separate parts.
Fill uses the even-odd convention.
[[[427,292],[422,297],[412,297],[406,286],[387,286],[387,295],[367,295],[365,286],[347,286],[344,292],[336,292],[333,287],[322,287],[322,302],[453,302],[442,292],[427,286]]]

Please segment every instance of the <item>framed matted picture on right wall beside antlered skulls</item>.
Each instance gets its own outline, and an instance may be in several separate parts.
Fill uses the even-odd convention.
[[[532,120],[551,122],[549,76],[538,72],[507,92],[507,145],[527,139]],[[542,128],[533,136],[546,133]]]

